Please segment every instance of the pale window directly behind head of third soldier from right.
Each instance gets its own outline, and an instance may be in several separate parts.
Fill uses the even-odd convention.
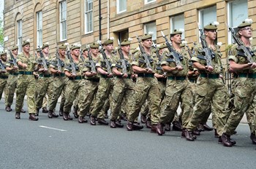
[[[183,29],[184,30],[184,15],[177,15],[174,17],[170,17],[170,32],[173,32],[175,29]],[[181,35],[181,38],[185,38],[185,32]]]

